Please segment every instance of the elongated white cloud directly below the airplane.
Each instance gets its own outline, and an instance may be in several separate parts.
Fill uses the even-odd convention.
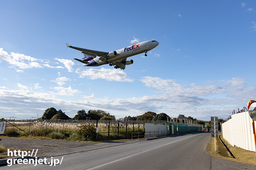
[[[101,67],[100,70],[97,69],[87,69],[82,70],[81,68],[76,69],[76,73],[80,74],[79,77],[84,78],[87,77],[88,79],[105,79],[107,81],[126,81],[132,82],[133,79],[127,77],[126,73],[120,69],[106,69]]]

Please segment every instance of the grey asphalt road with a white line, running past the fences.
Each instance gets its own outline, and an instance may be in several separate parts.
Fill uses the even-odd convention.
[[[2,166],[1,169],[256,169],[256,166],[218,159],[209,155],[205,150],[210,137],[210,133],[192,133],[149,141],[132,140],[111,147],[53,156],[56,162],[57,159],[63,158],[61,165],[37,164],[34,166],[22,163]],[[50,159],[47,158],[46,163],[50,162]]]

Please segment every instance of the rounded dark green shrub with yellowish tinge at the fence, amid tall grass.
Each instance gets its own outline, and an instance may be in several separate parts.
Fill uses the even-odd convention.
[[[96,126],[94,124],[81,124],[76,132],[88,139],[93,139],[96,137]]]

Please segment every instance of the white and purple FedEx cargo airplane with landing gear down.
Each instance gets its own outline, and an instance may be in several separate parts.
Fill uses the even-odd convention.
[[[67,47],[74,48],[84,53],[84,58],[82,60],[75,59],[82,62],[83,66],[101,66],[104,64],[109,64],[109,66],[115,66],[116,69],[120,68],[123,70],[125,69],[125,65],[130,65],[133,63],[133,60],[126,60],[128,57],[140,53],[145,53],[145,56],[147,56],[148,51],[158,46],[158,44],[159,42],[150,40],[143,41],[132,46],[127,46],[112,52],[101,52],[69,46],[68,43],[66,43]]]

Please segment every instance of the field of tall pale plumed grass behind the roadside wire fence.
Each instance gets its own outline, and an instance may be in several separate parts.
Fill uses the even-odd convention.
[[[12,123],[12,122],[11,122]],[[84,124],[84,123],[83,123]],[[44,121],[35,121],[35,122],[18,122],[15,121],[14,125],[19,127],[20,129],[27,131],[29,135],[32,136],[43,136],[43,137],[49,137],[52,139],[64,139],[64,140],[70,140],[70,141],[86,141],[90,138],[87,138],[86,136],[83,137],[83,135],[78,135],[79,127],[83,125],[81,123],[55,123],[55,122],[48,122],[46,120]],[[30,127],[29,127],[30,125]],[[88,125],[88,123],[84,124]],[[11,124],[7,123],[6,126],[6,133],[5,135],[8,136],[21,136],[24,134],[27,135],[27,133],[23,133],[23,131],[20,131],[16,127],[13,127]],[[96,123],[94,123],[94,127],[96,127]],[[108,139],[108,122],[98,122],[98,139],[97,140],[107,140]],[[12,130],[14,129],[14,131]],[[109,125],[109,140],[114,139],[127,139],[131,138],[131,132],[138,132],[138,131],[144,131],[143,125],[140,124],[140,129],[138,127],[138,124],[126,124],[119,123],[119,130],[117,123],[110,122]],[[117,138],[117,131],[119,131],[119,138]],[[126,133],[127,131],[127,133]],[[94,138],[94,136],[93,136]],[[92,140],[92,138],[91,138]]]

